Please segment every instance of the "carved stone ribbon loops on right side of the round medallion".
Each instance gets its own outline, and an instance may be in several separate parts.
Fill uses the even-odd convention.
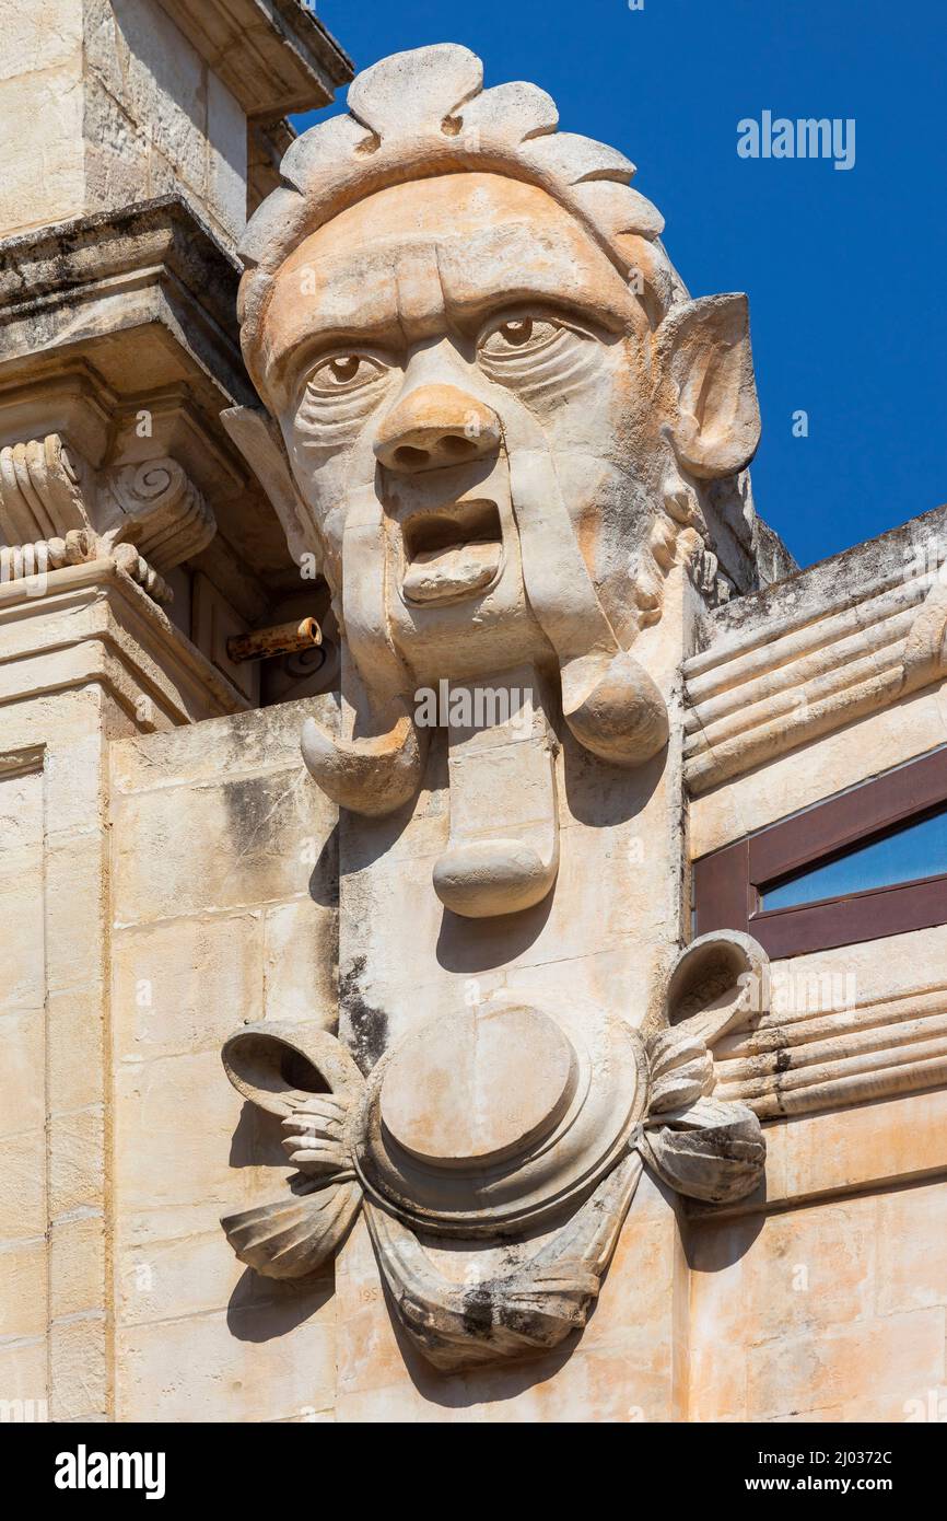
[[[760,1121],[714,1098],[713,1048],[765,1002],[769,960],[749,935],[721,931],[687,946],[672,967],[669,1028],[648,1043],[651,1098],[638,1150],[664,1183],[690,1199],[733,1203],[763,1180]]]

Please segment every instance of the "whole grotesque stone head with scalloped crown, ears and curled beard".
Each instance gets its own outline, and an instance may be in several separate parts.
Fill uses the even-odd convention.
[[[638,765],[667,715],[635,639],[675,563],[725,595],[713,520],[745,516],[746,300],[690,301],[634,164],[556,132],[534,85],[485,91],[464,47],[385,59],[348,103],[290,148],[242,245],[243,351],[278,430],[228,414],[290,548],[319,546],[344,634],[344,733],[309,724],[306,762],[339,805],[391,812],[423,774],[418,687],[526,669],[538,706],[558,672],[587,750]],[[547,824],[491,838],[458,797],[435,868],[456,913],[552,887],[534,738]]]

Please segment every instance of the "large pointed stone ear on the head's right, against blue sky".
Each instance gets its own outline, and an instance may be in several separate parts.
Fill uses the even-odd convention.
[[[707,295],[670,312],[657,333],[670,406],[670,435],[683,465],[714,479],[749,464],[760,443],[745,295]]]

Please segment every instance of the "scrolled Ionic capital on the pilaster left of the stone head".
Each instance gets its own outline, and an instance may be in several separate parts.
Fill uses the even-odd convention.
[[[109,558],[157,602],[164,575],[216,532],[213,513],[172,458],[94,470],[59,433],[0,449],[0,581]]]

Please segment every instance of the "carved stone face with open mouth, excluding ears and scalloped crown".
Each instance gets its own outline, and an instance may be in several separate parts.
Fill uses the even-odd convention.
[[[626,634],[667,453],[651,347],[605,252],[515,179],[394,186],[306,239],[261,368],[347,618],[368,581],[418,680],[476,675],[552,656],[531,601],[584,567]]]

